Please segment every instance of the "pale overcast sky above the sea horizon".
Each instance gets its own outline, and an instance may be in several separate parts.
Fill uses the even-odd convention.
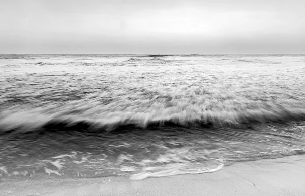
[[[0,54],[305,54],[304,0],[0,0]]]

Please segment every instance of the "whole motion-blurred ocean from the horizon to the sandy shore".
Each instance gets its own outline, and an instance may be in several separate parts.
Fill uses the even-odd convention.
[[[217,172],[305,152],[305,55],[0,55],[0,178]]]

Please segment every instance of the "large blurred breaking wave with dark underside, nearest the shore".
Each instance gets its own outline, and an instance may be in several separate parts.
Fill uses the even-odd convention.
[[[3,113],[0,132],[34,132],[37,130],[115,131],[156,127],[249,127],[257,123],[286,123],[305,120],[305,108],[243,111],[181,111],[165,114],[121,112],[111,117],[90,118],[81,115],[56,115],[40,112]]]

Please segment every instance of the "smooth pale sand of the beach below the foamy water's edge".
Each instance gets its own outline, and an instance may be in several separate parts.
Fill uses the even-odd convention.
[[[2,180],[0,195],[304,195],[305,156],[239,162],[214,173],[132,181],[127,177]]]

